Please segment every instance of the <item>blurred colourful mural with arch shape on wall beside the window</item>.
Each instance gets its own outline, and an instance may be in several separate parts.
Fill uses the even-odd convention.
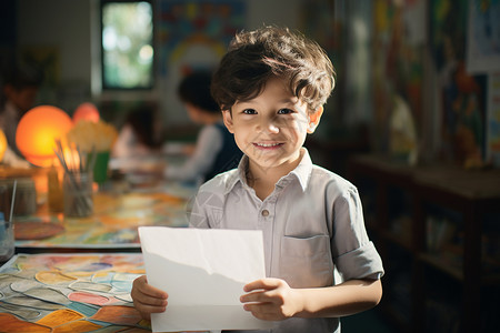
[[[186,74],[218,65],[236,32],[246,28],[246,1],[161,0],[158,12],[162,104],[170,124],[189,123],[177,87]]]

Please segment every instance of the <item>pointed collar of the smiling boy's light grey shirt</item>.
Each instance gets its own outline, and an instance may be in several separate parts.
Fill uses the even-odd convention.
[[[312,171],[312,161],[311,157],[309,155],[309,152],[306,148],[301,148],[302,151],[302,160],[300,160],[299,165],[297,165],[296,169],[293,169],[289,174],[282,176],[278,183],[277,186],[284,186],[287,185],[293,178],[297,178],[299,181],[302,191],[306,191],[309,179],[311,176]],[[226,183],[226,193],[231,192],[231,190],[234,188],[237,183],[241,183],[243,186],[248,186],[247,184],[247,170],[248,170],[248,157],[243,155],[241,159],[237,172],[233,172]]]

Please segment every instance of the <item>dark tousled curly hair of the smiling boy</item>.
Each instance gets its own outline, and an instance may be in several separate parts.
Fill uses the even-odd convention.
[[[336,72],[324,50],[288,28],[264,27],[237,33],[212,78],[211,92],[221,110],[259,95],[272,78],[288,82],[290,92],[310,110],[324,104]]]

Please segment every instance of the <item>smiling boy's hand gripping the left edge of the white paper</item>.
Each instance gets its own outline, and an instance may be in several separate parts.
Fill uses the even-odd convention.
[[[163,312],[167,309],[167,297],[169,295],[148,284],[146,275],[133,281],[130,295],[133,300],[133,306],[146,320],[151,319],[151,313]]]

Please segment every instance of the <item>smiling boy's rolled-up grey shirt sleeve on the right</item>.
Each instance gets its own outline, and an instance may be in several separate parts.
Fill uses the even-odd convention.
[[[368,238],[356,188],[336,200],[333,216],[332,256],[343,280],[380,279],[383,275],[382,260]]]

